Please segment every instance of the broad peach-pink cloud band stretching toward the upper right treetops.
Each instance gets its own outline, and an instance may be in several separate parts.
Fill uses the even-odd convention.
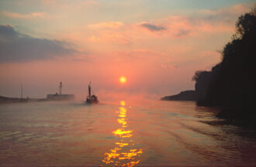
[[[181,39],[192,36],[206,36],[212,33],[232,33],[239,15],[250,11],[251,3],[237,4],[220,9],[202,9],[189,15],[169,15],[154,20],[155,24],[140,23],[140,27],[150,30],[148,36]],[[159,26],[161,25],[161,26]]]

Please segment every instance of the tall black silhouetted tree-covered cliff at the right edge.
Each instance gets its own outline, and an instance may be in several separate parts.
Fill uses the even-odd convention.
[[[195,72],[192,80],[195,80],[195,91],[199,96],[197,103],[232,108],[228,112],[232,111],[237,117],[240,117],[238,112],[247,112],[256,118],[255,8],[239,17],[236,33],[231,39],[223,48],[220,63],[211,71]]]

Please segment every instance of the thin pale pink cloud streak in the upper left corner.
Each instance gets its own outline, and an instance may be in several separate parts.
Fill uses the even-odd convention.
[[[45,12],[32,12],[29,14],[20,14],[16,12],[8,12],[3,11],[3,15],[9,17],[9,18],[15,18],[15,19],[36,19],[36,18],[44,18],[46,13]]]

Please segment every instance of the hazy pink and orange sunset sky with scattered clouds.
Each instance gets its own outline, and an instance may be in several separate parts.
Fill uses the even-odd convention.
[[[0,0],[0,95],[159,98],[193,90],[254,0]],[[119,83],[119,77],[126,83]]]

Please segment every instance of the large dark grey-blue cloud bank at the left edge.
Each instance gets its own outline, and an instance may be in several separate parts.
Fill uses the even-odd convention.
[[[0,63],[47,60],[78,53],[69,43],[39,39],[16,32],[12,26],[0,26]]]

